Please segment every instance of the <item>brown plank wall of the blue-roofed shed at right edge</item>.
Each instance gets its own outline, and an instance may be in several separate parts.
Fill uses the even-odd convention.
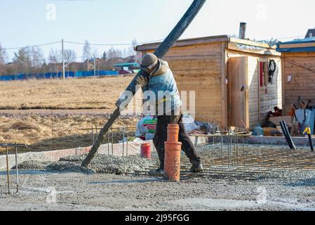
[[[292,103],[298,106],[299,96],[302,101],[307,102],[311,99],[311,105],[315,104],[315,72],[309,71],[315,71],[314,59],[315,52],[283,53],[283,107],[286,113],[291,109]],[[292,76],[291,82],[288,82],[288,76]]]

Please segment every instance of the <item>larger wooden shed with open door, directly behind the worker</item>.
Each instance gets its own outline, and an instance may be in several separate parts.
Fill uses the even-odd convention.
[[[136,51],[153,53],[160,43]],[[227,35],[182,39],[167,55],[180,91],[195,91],[196,121],[255,127],[267,113],[281,108],[281,57],[275,47]],[[276,71],[269,79],[269,61]],[[242,87],[245,89],[242,89]]]

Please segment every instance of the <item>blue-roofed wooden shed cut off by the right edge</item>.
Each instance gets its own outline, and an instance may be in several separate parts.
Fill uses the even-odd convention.
[[[277,45],[281,52],[283,108],[289,113],[294,103],[311,100],[315,104],[315,37],[287,41]]]

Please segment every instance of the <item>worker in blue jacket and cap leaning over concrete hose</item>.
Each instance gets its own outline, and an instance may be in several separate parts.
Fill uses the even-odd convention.
[[[164,143],[167,141],[168,124],[178,124],[180,126],[179,141],[182,143],[182,150],[185,151],[192,163],[191,172],[203,172],[201,158],[196,152],[191,139],[189,139],[182,122],[182,101],[180,100],[173,72],[170,70],[168,63],[157,58],[152,53],[147,53],[142,59],[141,68],[147,73],[147,76],[140,75],[137,83],[141,86],[142,91],[152,91],[156,96],[154,103],[157,124],[153,141],[159,155],[160,166],[158,169],[150,171],[149,175],[163,176]],[[162,97],[159,96],[161,91],[164,93]]]

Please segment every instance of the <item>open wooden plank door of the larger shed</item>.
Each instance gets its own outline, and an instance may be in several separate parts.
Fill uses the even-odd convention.
[[[229,126],[249,128],[248,118],[248,58],[229,58]],[[243,89],[245,87],[245,89]]]

